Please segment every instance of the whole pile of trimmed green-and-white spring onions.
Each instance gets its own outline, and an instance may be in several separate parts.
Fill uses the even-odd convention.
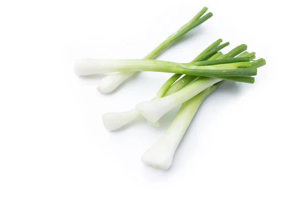
[[[257,74],[257,68],[266,64],[264,59],[254,60],[255,53],[246,52],[245,44],[222,54],[221,49],[229,45],[229,42],[222,43],[222,39],[213,42],[189,63],[153,60],[173,40],[209,19],[212,13],[204,15],[206,11],[207,8],[203,8],[142,60],[75,61],[74,71],[79,76],[118,72],[102,79],[98,90],[104,93],[114,90],[127,78],[141,71],[174,73],[153,99],[139,103],[129,111],[109,112],[102,116],[107,130],[119,129],[141,116],[157,125],[164,114],[181,105],[165,134],[143,154],[142,161],[147,165],[169,169],[175,150],[202,101],[224,80],[254,83],[252,76]]]

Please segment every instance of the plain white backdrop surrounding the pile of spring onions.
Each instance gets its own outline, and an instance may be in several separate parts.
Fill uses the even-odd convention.
[[[303,201],[299,1],[2,1],[0,201]],[[218,38],[267,60],[254,84],[224,82],[200,107],[168,171],[141,163],[153,128],[108,132],[101,115],[153,98],[145,72],[110,94],[78,58],[140,59],[207,6],[214,16],[158,58],[188,62]],[[294,61],[292,61],[294,60]]]

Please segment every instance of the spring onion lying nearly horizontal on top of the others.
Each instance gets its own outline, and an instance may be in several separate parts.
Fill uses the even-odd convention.
[[[249,61],[249,58],[244,59]],[[234,76],[249,78],[250,76],[255,76],[257,73],[256,68],[238,68],[250,66],[250,62],[200,66],[199,63],[180,64],[156,60],[79,59],[75,61],[74,70],[79,76],[112,72],[153,71],[219,77],[224,80],[231,80],[231,77]]]

